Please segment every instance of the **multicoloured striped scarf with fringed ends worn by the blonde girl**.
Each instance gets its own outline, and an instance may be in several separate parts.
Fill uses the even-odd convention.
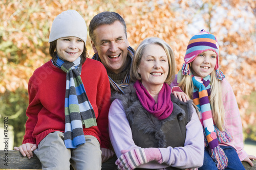
[[[217,126],[214,125],[214,120],[212,119],[211,107],[209,102],[210,96],[210,75],[201,79],[199,82],[192,75],[192,81],[194,85],[193,92],[193,102],[197,106],[200,113],[200,122],[204,127],[204,134],[206,136],[205,146],[209,148],[209,154],[211,158],[215,161],[218,169],[224,169],[227,167],[228,159],[224,151],[219,146],[219,141],[229,142],[232,137],[228,132],[221,132]]]

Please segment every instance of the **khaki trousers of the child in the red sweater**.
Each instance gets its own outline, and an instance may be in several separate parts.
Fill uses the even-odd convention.
[[[55,131],[40,141],[34,151],[43,170],[70,169],[70,164],[78,170],[101,169],[101,150],[96,137],[85,135],[86,143],[76,149],[67,149],[64,133]]]

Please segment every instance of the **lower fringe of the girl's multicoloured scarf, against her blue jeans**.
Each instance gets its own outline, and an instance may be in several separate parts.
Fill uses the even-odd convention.
[[[215,161],[218,169],[225,169],[227,167],[228,159],[224,151],[218,146],[213,150],[209,150],[211,158]]]

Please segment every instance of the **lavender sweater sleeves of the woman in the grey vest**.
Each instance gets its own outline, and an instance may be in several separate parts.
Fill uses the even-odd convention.
[[[110,139],[117,157],[121,156],[122,150],[132,150],[137,147],[133,141],[132,131],[126,118],[125,111],[120,100],[113,101],[109,112],[109,133]],[[202,166],[204,154],[204,139],[202,126],[196,110],[190,122],[186,125],[186,139],[184,147],[159,148],[163,163],[148,162],[140,165],[140,168],[162,168],[168,166],[178,168],[191,168]]]

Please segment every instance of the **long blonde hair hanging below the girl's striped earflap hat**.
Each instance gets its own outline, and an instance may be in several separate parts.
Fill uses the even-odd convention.
[[[218,129],[220,131],[224,131],[224,118],[225,118],[225,110],[222,102],[222,89],[221,89],[221,81],[216,78],[215,70],[210,74],[211,79],[211,88],[210,88],[210,106],[212,111],[212,118]],[[178,85],[189,97],[189,99],[193,99],[193,82],[191,75],[182,75],[182,80]],[[200,116],[199,116],[200,118]]]

